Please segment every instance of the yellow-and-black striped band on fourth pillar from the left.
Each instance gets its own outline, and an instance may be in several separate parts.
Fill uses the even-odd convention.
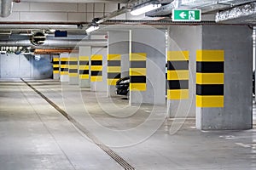
[[[79,79],[80,80],[89,79],[89,56],[79,57]]]

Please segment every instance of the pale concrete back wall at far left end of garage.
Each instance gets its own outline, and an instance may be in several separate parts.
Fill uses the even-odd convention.
[[[52,64],[49,55],[40,55],[36,60],[33,55],[0,54],[1,78],[34,78],[52,77]]]

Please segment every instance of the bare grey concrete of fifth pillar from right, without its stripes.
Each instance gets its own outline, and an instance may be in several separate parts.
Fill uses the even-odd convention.
[[[91,55],[102,54],[102,82],[90,82],[90,89],[92,91],[107,92],[107,48],[91,48]]]

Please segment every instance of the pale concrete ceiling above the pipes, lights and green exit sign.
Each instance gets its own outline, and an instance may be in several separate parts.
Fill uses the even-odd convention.
[[[215,21],[215,14],[219,11],[219,14],[222,14],[224,11],[231,11],[234,8],[256,1],[160,0],[163,8],[147,13],[146,15],[150,17],[145,15],[133,17],[126,9],[120,12],[119,8],[132,8],[132,6],[127,5],[127,0],[20,0],[17,2],[20,3],[14,3],[13,12],[9,17],[0,18],[0,44],[2,45],[4,42],[14,42],[20,45],[20,41],[29,40],[36,31],[44,31],[48,39],[54,41],[54,33],[49,31],[51,29],[65,30],[68,32],[67,38],[60,38],[58,41],[70,40],[73,42],[76,40],[80,41],[81,39],[89,41],[93,37],[85,36],[85,28],[90,24],[92,19],[102,17],[106,20],[110,19],[111,22],[108,22],[108,20],[105,22],[104,20],[100,24],[102,29],[93,34],[102,35],[103,37],[107,34],[109,24],[123,24],[121,26],[123,28],[125,24],[126,26],[143,24],[166,28],[166,25],[172,24],[172,8],[200,8],[203,14],[203,20],[211,21],[212,24]],[[145,1],[131,0],[129,4],[140,4],[143,2]],[[242,15],[232,20],[224,20],[221,23],[255,26],[255,13],[256,10],[252,14]]]

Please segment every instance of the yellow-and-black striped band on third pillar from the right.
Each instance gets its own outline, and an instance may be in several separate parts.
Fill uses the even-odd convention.
[[[147,90],[147,54],[132,53],[130,54],[130,90],[146,91]]]

